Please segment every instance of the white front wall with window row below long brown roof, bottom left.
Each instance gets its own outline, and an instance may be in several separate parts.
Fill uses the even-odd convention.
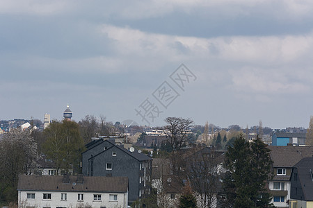
[[[72,191],[19,191],[19,208],[118,208],[127,207],[127,193]]]

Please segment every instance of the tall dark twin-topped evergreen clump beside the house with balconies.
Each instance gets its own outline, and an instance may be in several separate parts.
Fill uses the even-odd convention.
[[[272,160],[263,141],[257,138],[250,144],[243,135],[228,146],[225,155],[223,188],[227,207],[271,207],[266,193],[266,180],[271,176]]]

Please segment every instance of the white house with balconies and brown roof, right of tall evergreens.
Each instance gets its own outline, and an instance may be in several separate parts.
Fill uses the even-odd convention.
[[[312,157],[313,146],[268,146],[273,160],[273,180],[268,188],[275,207],[289,207],[290,179],[294,165],[304,157]]]

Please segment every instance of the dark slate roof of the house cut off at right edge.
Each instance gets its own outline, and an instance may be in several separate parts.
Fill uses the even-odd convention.
[[[313,157],[306,157],[295,165],[305,200],[313,201]]]

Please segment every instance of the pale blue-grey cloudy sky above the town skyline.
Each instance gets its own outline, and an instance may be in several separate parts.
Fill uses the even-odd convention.
[[[307,128],[312,52],[310,0],[2,0],[0,120]]]

